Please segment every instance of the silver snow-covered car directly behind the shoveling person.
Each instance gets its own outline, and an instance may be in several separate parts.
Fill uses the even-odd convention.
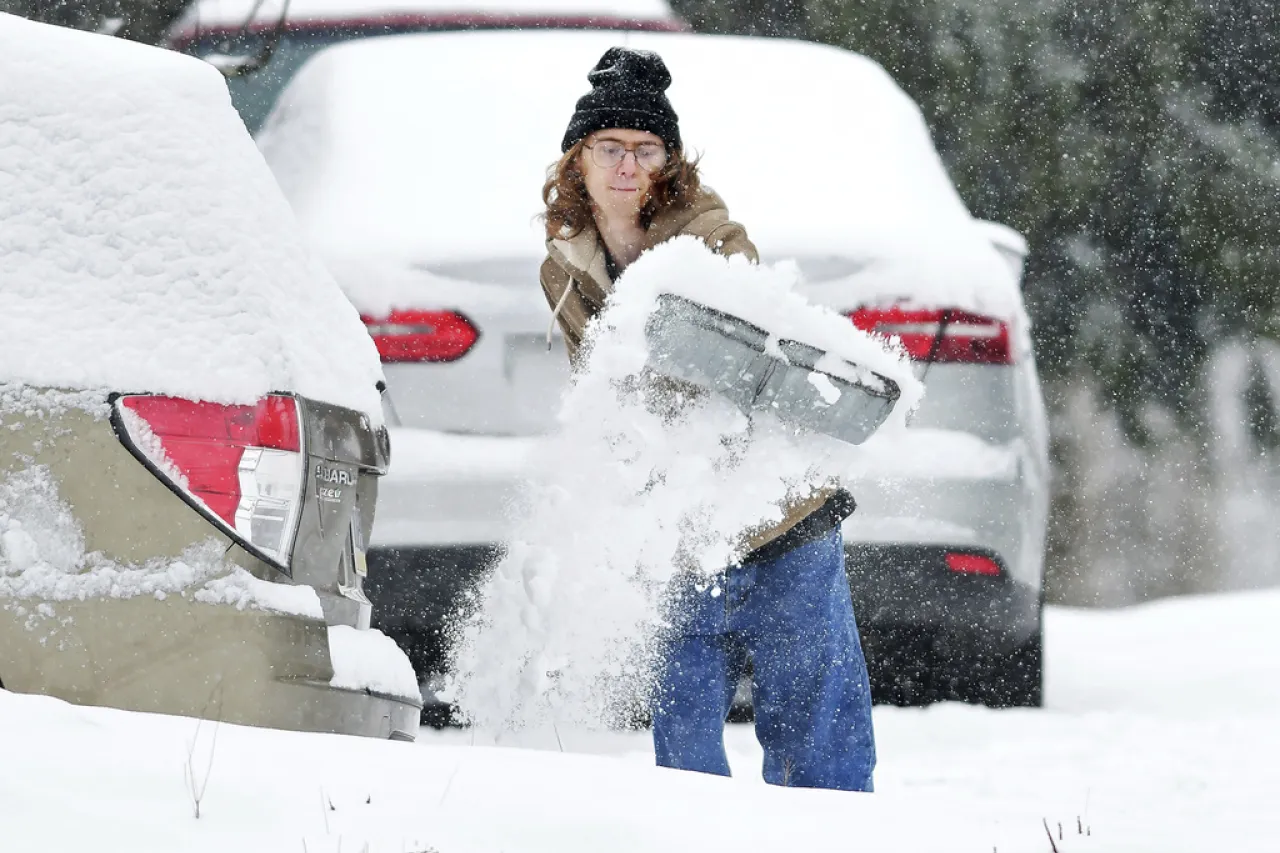
[[[389,386],[375,619],[420,675],[438,671],[442,625],[554,428],[567,365],[548,346],[535,215],[586,70],[618,42],[666,59],[681,133],[763,259],[799,265],[810,298],[899,337],[927,374],[908,437],[873,438],[876,465],[850,483],[877,697],[1037,703],[1047,437],[1025,243],[969,214],[883,69],[782,40],[397,36],[333,47],[294,78],[259,143]]]

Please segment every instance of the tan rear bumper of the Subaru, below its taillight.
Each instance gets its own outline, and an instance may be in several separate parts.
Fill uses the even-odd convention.
[[[37,610],[38,607],[38,610]],[[419,697],[333,686],[328,626],[180,596],[0,602],[0,681],[77,704],[412,740]]]

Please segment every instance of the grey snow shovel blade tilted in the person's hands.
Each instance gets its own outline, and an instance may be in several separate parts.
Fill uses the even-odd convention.
[[[844,361],[850,382],[817,368],[827,356],[799,341],[778,341],[740,318],[664,293],[645,324],[648,366],[731,400],[744,414],[769,411],[792,426],[860,444],[879,429],[901,389],[888,377]]]

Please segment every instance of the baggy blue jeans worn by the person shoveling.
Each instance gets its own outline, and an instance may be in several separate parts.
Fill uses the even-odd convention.
[[[772,785],[872,790],[876,736],[838,528],[768,562],[672,589],[653,710],[658,765],[728,776],[724,719],[748,660]]]

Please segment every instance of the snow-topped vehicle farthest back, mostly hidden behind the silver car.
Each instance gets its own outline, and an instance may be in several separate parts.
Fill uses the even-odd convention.
[[[667,0],[196,0],[169,46],[236,68],[232,102],[256,133],[302,63],[343,41],[451,29],[687,28]]]

